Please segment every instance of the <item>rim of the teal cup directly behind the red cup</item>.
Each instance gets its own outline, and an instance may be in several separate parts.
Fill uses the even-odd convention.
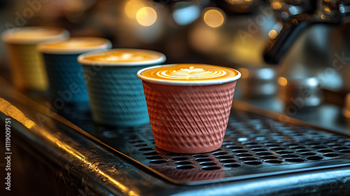
[[[145,52],[147,51],[147,52],[153,52],[155,54],[158,54],[160,55],[160,57],[158,59],[145,60],[140,62],[99,62],[99,61],[84,59],[85,57],[90,57],[101,52],[112,51],[112,50],[115,50],[115,51],[116,50],[130,50],[130,51],[137,50],[137,51],[145,51]],[[165,55],[162,54],[161,52],[157,52],[154,50],[137,49],[137,48],[112,48],[107,50],[85,52],[78,56],[78,62],[80,64],[87,65],[87,66],[143,66],[143,65],[162,64],[163,62],[165,62],[166,59],[167,58],[165,57]]]

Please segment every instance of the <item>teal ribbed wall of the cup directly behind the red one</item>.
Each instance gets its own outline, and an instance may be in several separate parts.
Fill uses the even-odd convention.
[[[137,71],[145,67],[83,66],[96,123],[113,126],[149,123],[142,81],[137,78]]]

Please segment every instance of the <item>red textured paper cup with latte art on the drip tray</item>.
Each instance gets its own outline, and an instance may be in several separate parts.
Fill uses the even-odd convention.
[[[221,147],[237,79],[235,69],[171,64],[141,69],[155,145],[174,153]]]

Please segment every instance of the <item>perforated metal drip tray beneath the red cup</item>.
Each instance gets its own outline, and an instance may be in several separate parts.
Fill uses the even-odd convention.
[[[162,151],[155,146],[151,125],[95,125],[88,111],[75,108],[66,108],[61,115],[134,166],[173,183],[198,185],[350,166],[349,136],[255,112],[232,109],[223,145],[202,154]]]

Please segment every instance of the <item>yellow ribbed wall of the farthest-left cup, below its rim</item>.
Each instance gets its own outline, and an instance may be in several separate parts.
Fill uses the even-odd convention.
[[[48,90],[43,57],[35,44],[7,43],[13,85],[20,90]]]

